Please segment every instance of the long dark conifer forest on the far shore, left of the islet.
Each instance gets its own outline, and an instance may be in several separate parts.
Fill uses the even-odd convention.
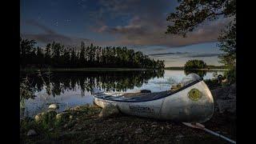
[[[127,67],[164,68],[164,61],[150,59],[141,51],[115,46],[65,47],[59,42],[48,43],[45,48],[35,46],[34,40],[20,38],[20,65],[58,68]]]

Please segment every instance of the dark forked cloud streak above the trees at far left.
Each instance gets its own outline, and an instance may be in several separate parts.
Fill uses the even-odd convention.
[[[39,29],[44,31],[42,34],[21,34],[22,38],[34,39],[36,42],[42,42],[44,44],[50,42],[60,42],[65,46],[79,46],[81,42],[85,42],[87,45],[89,45],[91,42],[93,42],[87,38],[76,38],[66,36],[64,34],[58,34],[54,30],[51,30],[47,26],[43,26],[35,20],[26,21],[26,23],[30,24],[31,26],[37,26]]]

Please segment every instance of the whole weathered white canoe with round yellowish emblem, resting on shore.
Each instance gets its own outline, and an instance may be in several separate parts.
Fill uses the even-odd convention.
[[[197,74],[182,79],[178,90],[114,94],[94,90],[94,103],[118,107],[124,114],[177,122],[206,122],[214,114],[214,98]],[[133,96],[135,95],[135,96]]]

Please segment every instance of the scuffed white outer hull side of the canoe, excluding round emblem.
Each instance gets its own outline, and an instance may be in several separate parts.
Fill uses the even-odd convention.
[[[193,88],[202,94],[198,100],[188,97],[189,91]],[[214,99],[203,81],[165,98],[146,102],[113,101],[94,96],[94,103],[102,108],[109,104],[118,106],[124,114],[178,122],[206,122],[214,114]]]

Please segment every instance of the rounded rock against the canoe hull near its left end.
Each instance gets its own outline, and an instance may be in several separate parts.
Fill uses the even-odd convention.
[[[101,113],[98,116],[100,118],[106,118],[106,117],[114,116],[117,114],[119,114],[118,107],[112,104],[109,104],[102,109]]]

